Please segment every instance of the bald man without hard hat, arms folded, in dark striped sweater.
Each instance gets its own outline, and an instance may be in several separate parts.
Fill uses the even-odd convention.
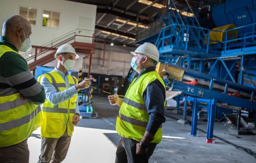
[[[24,48],[24,42],[26,42],[26,39],[29,40],[29,36],[31,34],[31,26],[29,22],[19,15],[13,15],[5,20],[2,34],[3,35],[0,36],[0,46],[9,50],[2,50],[4,53],[2,52],[3,55],[0,54],[0,139],[2,139],[0,140],[0,145],[4,144],[4,142],[1,141],[6,139],[7,136],[9,139],[13,139],[14,137],[12,134],[6,134],[8,132],[10,133],[10,130],[6,130],[6,126],[9,121],[6,116],[10,116],[10,114],[6,113],[6,111],[9,111],[6,110],[6,107],[9,107],[11,111],[14,109],[21,109],[19,106],[23,106],[22,109],[24,109],[24,111],[22,111],[23,113],[21,114],[25,114],[24,117],[26,117],[27,110],[31,109],[26,107],[26,103],[32,102],[39,105],[45,101],[44,88],[36,81],[28,68],[26,60],[18,53],[18,51],[21,51],[21,49],[23,49],[23,51],[26,49]],[[20,93],[20,96],[22,96],[22,100],[24,100],[24,102],[22,102],[20,99],[11,99],[13,98],[12,95],[18,93]],[[8,97],[10,97],[10,102],[6,102]],[[29,104],[29,106],[34,104]],[[24,125],[30,123],[32,119],[35,119],[37,114],[35,113],[31,116],[28,115],[30,116],[28,117],[29,122],[26,123],[24,122],[23,117],[17,118],[20,115],[15,115],[15,113],[15,111],[12,111],[11,118],[14,119],[12,124],[15,124],[14,121],[16,121],[16,123],[19,122],[19,124],[15,124],[16,126],[13,126],[14,128],[16,127],[15,132],[20,132],[16,133],[16,135],[18,135],[18,137],[23,136],[26,140],[18,144],[16,144],[15,140],[13,140],[11,144],[14,145],[0,146],[1,163],[28,163],[29,161],[27,135],[30,135],[35,128],[28,129],[28,131],[30,130],[28,133],[24,130],[20,130],[19,127],[22,125],[22,123],[24,123]],[[35,125],[37,124],[32,124],[32,126]],[[11,128],[10,125],[7,127]]]

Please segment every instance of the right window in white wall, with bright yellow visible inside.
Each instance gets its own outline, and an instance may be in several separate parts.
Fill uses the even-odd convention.
[[[45,11],[43,13],[43,26],[59,28],[60,26],[60,12]]]

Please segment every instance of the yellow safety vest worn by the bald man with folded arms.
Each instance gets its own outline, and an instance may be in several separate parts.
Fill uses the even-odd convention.
[[[6,52],[18,52],[0,45],[0,58]],[[20,93],[0,97],[0,147],[26,140],[43,124],[41,107],[28,100],[21,100]]]

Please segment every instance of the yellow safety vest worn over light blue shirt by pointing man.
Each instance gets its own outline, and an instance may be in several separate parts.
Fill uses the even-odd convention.
[[[40,82],[42,76],[49,80],[57,92],[67,89],[65,81],[58,72],[53,70],[49,73],[43,74],[37,78],[38,82]],[[77,79],[68,75],[68,84],[69,87],[76,85]],[[44,124],[41,127],[41,137],[61,137],[64,134],[66,127],[68,129],[68,135],[72,136],[74,131],[72,121],[75,115],[76,99],[77,94],[58,105],[53,105],[49,100],[46,100],[41,105],[44,114]]]

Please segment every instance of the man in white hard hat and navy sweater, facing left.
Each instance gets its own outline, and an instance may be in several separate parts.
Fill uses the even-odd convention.
[[[131,66],[137,71],[124,99],[108,96],[111,105],[120,106],[116,131],[121,136],[116,163],[148,163],[162,139],[165,122],[165,85],[156,72],[159,52],[154,44],[144,43],[134,52]]]

